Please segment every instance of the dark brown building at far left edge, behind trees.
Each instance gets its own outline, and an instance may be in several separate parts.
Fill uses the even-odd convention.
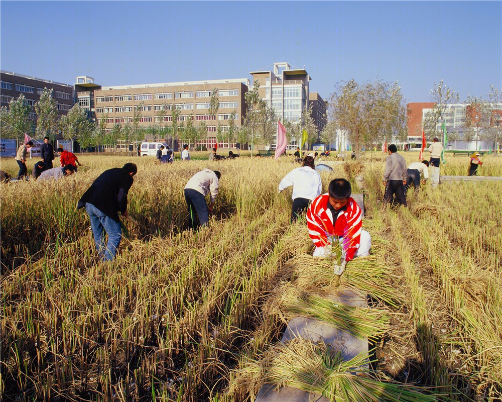
[[[11,99],[17,99],[19,95],[25,96],[25,102],[32,108],[30,119],[37,119],[35,103],[40,100],[44,88],[53,89],[52,96],[56,100],[58,115],[66,115],[73,106],[73,88],[71,85],[47,79],[30,77],[2,70],[2,89],[0,91],[1,106],[9,107]]]

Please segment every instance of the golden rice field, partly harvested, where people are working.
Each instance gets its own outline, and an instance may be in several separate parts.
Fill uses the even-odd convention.
[[[3,400],[236,402],[255,400],[264,382],[319,390],[320,380],[337,401],[372,400],[344,399],[341,389],[383,387],[398,396],[378,400],[502,398],[502,183],[428,184],[392,209],[382,153],[321,173],[324,191],[345,177],[364,192],[372,237],[371,255],[338,281],[330,261],[310,256],[305,222],[289,222],[291,189],[277,191],[297,167],[288,158],[79,160],[90,168],[58,182],[0,184]],[[128,161],[138,165],[128,210],[139,225],[123,220],[117,257],[100,263],[76,202],[103,170]],[[483,161],[479,175],[502,176],[501,157]],[[448,156],[441,174],[467,166]],[[209,228],[194,233],[183,187],[204,167],[221,171],[220,191]],[[14,159],[1,168],[18,170]],[[367,311],[333,309],[327,299],[340,287],[367,292]],[[369,337],[365,380],[325,345],[278,343],[294,314]],[[298,360],[307,366],[284,364]]]

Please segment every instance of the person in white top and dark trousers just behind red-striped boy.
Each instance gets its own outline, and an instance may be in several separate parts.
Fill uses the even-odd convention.
[[[321,176],[315,170],[314,158],[306,156],[302,167],[297,167],[289,172],[279,183],[279,192],[293,186],[293,207],[291,210],[291,223],[298,216],[307,211],[311,200],[321,194]]]

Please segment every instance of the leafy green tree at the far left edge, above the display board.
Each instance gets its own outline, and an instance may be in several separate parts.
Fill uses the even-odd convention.
[[[25,96],[19,95],[9,102],[9,108],[3,106],[0,112],[2,123],[0,124],[0,137],[24,140],[23,134],[32,135],[32,123],[30,121],[31,108],[25,102]]]

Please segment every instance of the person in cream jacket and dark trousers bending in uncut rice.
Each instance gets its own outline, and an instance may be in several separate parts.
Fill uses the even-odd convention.
[[[189,226],[193,230],[208,225],[209,213],[212,214],[214,201],[218,195],[220,177],[221,173],[217,170],[204,169],[195,173],[185,185]],[[206,203],[208,193],[210,193],[209,207]]]

